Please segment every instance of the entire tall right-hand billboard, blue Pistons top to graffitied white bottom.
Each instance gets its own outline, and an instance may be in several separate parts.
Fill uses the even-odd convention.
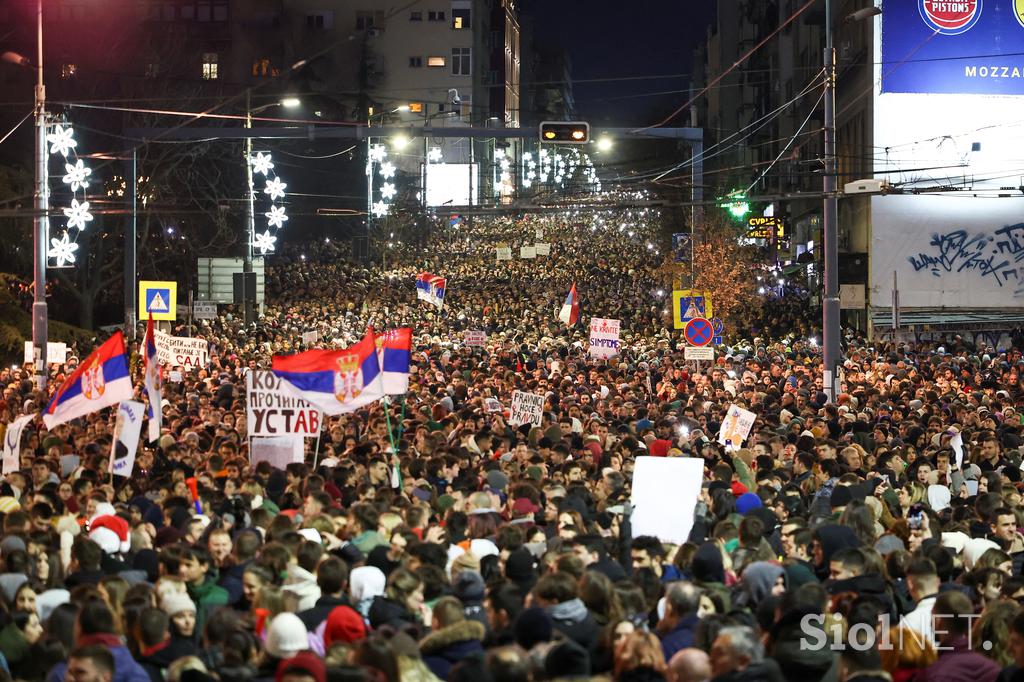
[[[1016,3],[887,2],[876,19],[874,177],[894,194],[870,200],[874,308],[891,306],[894,273],[903,308],[1024,307]]]

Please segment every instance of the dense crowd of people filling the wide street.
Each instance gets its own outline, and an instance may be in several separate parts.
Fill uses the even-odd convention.
[[[292,247],[259,323],[178,328],[210,365],[165,375],[131,477],[109,474],[114,411],[34,421],[0,484],[0,680],[1024,679],[1020,350],[849,335],[829,402],[794,295],[698,367],[656,229],[445,220],[369,266]],[[550,255],[519,258],[534,243]],[[588,355],[592,315],[622,321],[617,356]],[[368,326],[413,328],[409,393],[327,418],[302,462],[252,462],[245,373]],[[0,422],[45,407],[30,369],[0,371]],[[540,427],[509,423],[514,390],[543,396]],[[756,420],[727,450],[733,404]],[[634,531],[646,457],[703,461],[692,519],[663,512],[688,542]]]

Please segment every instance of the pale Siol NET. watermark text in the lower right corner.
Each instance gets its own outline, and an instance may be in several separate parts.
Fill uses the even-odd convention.
[[[808,613],[800,621],[800,629],[804,635],[800,640],[800,648],[802,651],[820,651],[824,648],[829,648],[833,651],[846,649],[867,651],[871,648],[878,648],[880,651],[885,651],[893,648],[902,649],[904,642],[912,640],[922,648],[926,644],[930,644],[936,651],[952,651],[953,647],[941,644],[945,636],[951,634],[951,631],[943,628],[953,619],[958,619],[967,622],[967,646],[968,649],[973,650],[974,638],[971,634],[974,621],[979,617],[981,617],[979,613],[933,613],[933,640],[927,634],[920,632],[919,624],[911,624],[905,617],[899,619],[897,627],[893,627],[892,619],[888,613],[879,616],[879,625],[876,628],[866,623],[857,623],[849,628],[844,628],[841,621],[828,619],[821,613]],[[992,648],[992,642],[988,640],[980,644],[985,651]]]

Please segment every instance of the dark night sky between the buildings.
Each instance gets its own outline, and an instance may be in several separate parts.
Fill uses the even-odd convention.
[[[688,99],[693,49],[705,39],[715,5],[715,0],[519,3],[520,12],[535,17],[541,40],[568,50],[580,116],[607,125],[653,123]],[[584,82],[638,76],[663,78]]]

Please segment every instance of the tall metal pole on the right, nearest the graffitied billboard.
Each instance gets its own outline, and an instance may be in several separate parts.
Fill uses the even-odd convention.
[[[824,175],[821,188],[822,231],[824,239],[824,291],[821,299],[822,355],[824,361],[824,392],[828,401],[838,394],[840,334],[839,334],[839,215],[836,200],[836,48],[833,46],[831,2],[825,0],[824,49]]]

